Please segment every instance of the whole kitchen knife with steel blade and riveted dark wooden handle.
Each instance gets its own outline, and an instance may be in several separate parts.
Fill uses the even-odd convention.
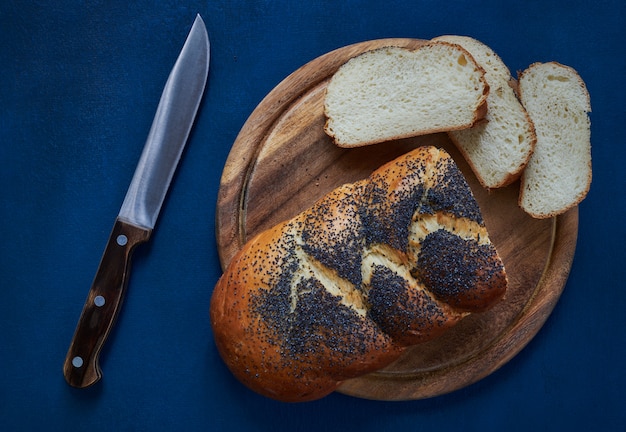
[[[155,227],[204,93],[209,59],[208,34],[197,15],[161,94],[68,349],[63,375],[73,387],[88,387],[102,377],[100,351],[120,311],[133,250]]]

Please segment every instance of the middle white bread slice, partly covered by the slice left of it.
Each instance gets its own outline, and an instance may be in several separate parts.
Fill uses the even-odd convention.
[[[533,123],[510,85],[510,71],[490,47],[474,38],[446,35],[434,40],[461,45],[485,69],[490,88],[486,121],[448,135],[484,187],[507,186],[520,177],[537,141]]]

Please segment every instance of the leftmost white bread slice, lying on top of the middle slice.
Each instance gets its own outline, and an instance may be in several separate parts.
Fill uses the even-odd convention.
[[[468,128],[484,117],[484,70],[462,47],[430,42],[360,54],[332,76],[324,130],[340,147]]]

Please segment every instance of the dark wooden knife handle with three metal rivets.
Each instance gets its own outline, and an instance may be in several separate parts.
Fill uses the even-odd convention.
[[[98,357],[122,305],[132,252],[151,233],[116,219],[63,365],[71,386],[88,387],[102,377]]]

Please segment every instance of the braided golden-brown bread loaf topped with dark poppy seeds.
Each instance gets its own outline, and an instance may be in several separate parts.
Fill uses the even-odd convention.
[[[307,401],[488,309],[506,286],[463,175],[421,147],[246,243],[217,282],[211,324],[245,385]]]

